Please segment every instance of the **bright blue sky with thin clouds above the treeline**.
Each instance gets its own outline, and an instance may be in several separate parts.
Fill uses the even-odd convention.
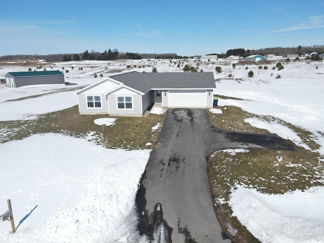
[[[0,56],[205,55],[324,44],[324,1],[3,1]]]

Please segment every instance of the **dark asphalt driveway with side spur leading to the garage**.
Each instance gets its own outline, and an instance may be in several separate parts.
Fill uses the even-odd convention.
[[[155,242],[231,242],[213,209],[207,156],[249,147],[292,149],[278,136],[212,128],[207,109],[169,109],[137,193],[141,234]]]

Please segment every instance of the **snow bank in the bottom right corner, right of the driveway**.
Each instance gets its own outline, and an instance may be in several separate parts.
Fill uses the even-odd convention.
[[[229,204],[232,216],[262,242],[322,242],[324,187],[269,195],[237,186]]]

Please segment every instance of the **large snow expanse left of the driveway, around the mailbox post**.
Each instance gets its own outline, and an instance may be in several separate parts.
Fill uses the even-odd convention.
[[[1,144],[0,153],[0,207],[5,212],[10,198],[19,225],[11,234],[9,222],[0,224],[6,242],[144,240],[134,203],[150,150],[106,149],[45,134]]]

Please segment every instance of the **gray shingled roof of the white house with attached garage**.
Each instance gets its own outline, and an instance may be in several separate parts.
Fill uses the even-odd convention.
[[[151,89],[216,88],[213,72],[128,72],[110,78],[144,94]]]

